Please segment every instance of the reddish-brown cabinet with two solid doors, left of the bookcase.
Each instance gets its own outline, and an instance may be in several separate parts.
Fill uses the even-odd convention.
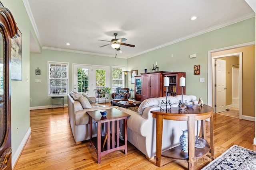
[[[163,73],[165,71],[146,72],[142,74],[142,101],[147,98],[163,96]]]

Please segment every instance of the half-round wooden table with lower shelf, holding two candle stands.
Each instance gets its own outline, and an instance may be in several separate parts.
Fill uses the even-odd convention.
[[[211,153],[211,158],[213,158],[214,145],[212,107],[207,105],[204,105],[203,107],[199,107],[198,105],[194,105],[193,107],[182,106],[181,112],[178,110],[178,107],[172,107],[170,111],[166,111],[166,109],[154,110],[151,111],[151,113],[152,116],[156,118],[156,166],[161,166],[161,155],[174,159],[187,159],[188,169],[190,170],[194,170],[195,158],[204,157],[208,154],[208,152]],[[195,148],[195,121],[201,120],[202,138],[205,138],[205,119],[208,118],[210,118],[210,145],[206,141],[204,148]],[[188,152],[183,152],[180,146],[162,152],[162,133],[164,119],[188,121]]]

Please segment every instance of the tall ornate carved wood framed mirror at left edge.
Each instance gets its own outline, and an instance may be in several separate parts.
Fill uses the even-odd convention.
[[[11,39],[18,27],[7,9],[0,7],[0,170],[11,170]]]

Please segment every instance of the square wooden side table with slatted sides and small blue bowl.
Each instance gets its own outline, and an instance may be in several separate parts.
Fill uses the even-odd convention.
[[[105,109],[108,111],[106,116],[100,114],[100,110],[87,111],[90,115],[90,147],[94,146],[96,153],[98,155],[98,164],[100,164],[101,157],[105,154],[113,152],[115,150],[124,150],[127,154],[127,117],[126,114],[116,108]],[[97,137],[92,138],[92,119],[94,119],[98,125],[97,127]],[[119,138],[119,121],[124,120],[124,141]],[[101,135],[102,123],[107,124],[106,135]],[[110,130],[110,123],[112,124],[112,131]],[[115,127],[116,126],[116,127]],[[103,147],[103,142],[105,137],[107,137],[107,147]]]

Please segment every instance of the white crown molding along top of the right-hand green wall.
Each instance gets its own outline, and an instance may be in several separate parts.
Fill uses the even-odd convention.
[[[174,40],[174,41],[170,41],[170,42],[168,42],[168,43],[164,43],[164,44],[162,44],[162,45],[159,45],[159,46],[156,46],[156,47],[154,47],[154,48],[148,49],[148,50],[146,50],[146,51],[142,51],[141,53],[137,53],[137,54],[135,54],[135,55],[128,56],[127,59],[128,59],[128,58],[135,57],[135,56],[138,56],[138,55],[142,55],[142,54],[144,54],[144,53],[148,53],[148,52],[150,52],[150,51],[154,51],[154,50],[156,50],[156,49],[160,49],[160,48],[162,48],[162,47],[166,47],[166,46],[168,46],[168,45],[172,45],[172,44],[178,43],[178,42],[180,42],[180,41],[184,41],[184,40],[186,40],[186,39],[190,39],[190,38],[192,38],[192,37],[196,37],[196,36],[198,36],[198,35],[202,35],[202,34],[204,34],[204,33],[208,33],[208,32],[210,32],[210,31],[214,31],[214,30],[216,30],[216,29],[219,29],[219,28],[222,28],[222,27],[226,27],[226,26],[228,26],[228,25],[232,25],[232,24],[234,24],[234,23],[238,23],[238,22],[240,22],[240,21],[244,21],[244,20],[247,20],[247,19],[250,19],[250,18],[253,18],[253,17],[255,17],[255,13],[254,13],[254,12],[252,12],[252,13],[250,13],[250,14],[248,14],[248,15],[242,16],[242,17],[240,17],[240,18],[236,18],[236,19],[234,19],[234,20],[230,20],[230,21],[228,21],[228,22],[225,22],[225,23],[216,25],[216,26],[214,26],[214,27],[210,27],[210,28],[208,28],[208,29],[204,29],[204,30],[202,30],[202,31],[198,31],[198,32],[196,32],[196,33],[193,33],[193,34],[190,34],[190,35],[188,35],[188,36],[185,36],[185,37],[176,39],[176,40]]]

